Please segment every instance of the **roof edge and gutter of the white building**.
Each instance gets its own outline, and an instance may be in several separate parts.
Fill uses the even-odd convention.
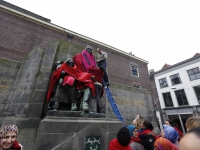
[[[196,54],[195,54],[195,55],[196,55]],[[199,58],[200,58],[200,55],[195,56],[195,57],[193,56],[193,57],[191,57],[191,58],[189,58],[189,59],[186,59],[186,60],[184,60],[184,61],[181,61],[181,62],[179,62],[179,63],[177,63],[177,64],[171,65],[171,66],[169,66],[169,67],[167,67],[167,68],[165,68],[165,69],[162,69],[162,70],[159,70],[159,71],[157,71],[157,72],[154,72],[154,75],[155,75],[155,74],[158,74],[158,73],[161,73],[161,72],[164,72],[164,71],[166,71],[166,70],[170,70],[170,69],[175,68],[175,67],[177,67],[177,66],[186,64],[186,63],[188,63],[188,62],[191,62],[191,61],[196,60],[196,59],[199,59]]]

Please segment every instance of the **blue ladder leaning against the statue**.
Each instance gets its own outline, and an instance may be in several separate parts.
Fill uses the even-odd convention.
[[[103,80],[103,85],[104,85],[104,89],[105,89],[105,91],[106,91],[108,100],[109,100],[109,102],[110,102],[110,105],[111,105],[111,107],[112,107],[112,109],[113,109],[114,114],[117,116],[117,118],[119,119],[119,121],[121,121],[121,122],[124,123],[124,119],[123,119],[122,115],[120,114],[120,111],[119,111],[119,109],[118,109],[118,107],[117,107],[117,104],[115,103],[115,100],[114,100],[114,98],[113,98],[113,96],[112,96],[112,94],[111,94],[109,88],[106,86],[104,80]],[[126,127],[126,124],[125,124],[125,123],[124,123],[124,126]]]

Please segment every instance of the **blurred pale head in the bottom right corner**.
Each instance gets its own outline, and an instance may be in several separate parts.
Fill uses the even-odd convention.
[[[179,150],[199,150],[200,127],[192,128],[179,142]]]

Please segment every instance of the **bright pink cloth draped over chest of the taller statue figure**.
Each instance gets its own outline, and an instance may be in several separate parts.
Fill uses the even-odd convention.
[[[82,51],[82,59],[83,59],[83,65],[85,66],[87,72],[89,72],[89,67],[93,66],[96,67],[95,57],[93,54],[90,54],[88,51],[83,50]]]

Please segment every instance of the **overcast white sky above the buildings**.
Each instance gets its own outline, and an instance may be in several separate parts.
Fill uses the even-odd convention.
[[[200,0],[6,0],[160,70],[200,52]],[[109,56],[108,56],[109,59]]]

